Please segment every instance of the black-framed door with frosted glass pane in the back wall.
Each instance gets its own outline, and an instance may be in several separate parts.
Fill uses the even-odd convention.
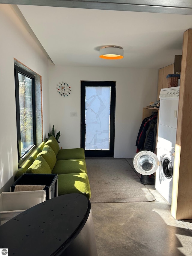
[[[114,156],[116,82],[81,81],[81,147],[85,156]]]

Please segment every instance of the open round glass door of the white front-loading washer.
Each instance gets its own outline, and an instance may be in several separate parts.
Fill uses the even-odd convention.
[[[150,175],[158,169],[158,157],[151,151],[141,151],[134,157],[135,170],[142,175]]]

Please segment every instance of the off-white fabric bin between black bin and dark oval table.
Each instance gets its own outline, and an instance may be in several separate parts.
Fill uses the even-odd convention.
[[[0,194],[0,225],[19,213],[45,201],[45,190],[2,192]]]

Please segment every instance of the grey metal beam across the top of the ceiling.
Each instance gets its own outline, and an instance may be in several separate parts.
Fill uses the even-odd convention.
[[[0,4],[192,15],[191,0],[0,0]]]

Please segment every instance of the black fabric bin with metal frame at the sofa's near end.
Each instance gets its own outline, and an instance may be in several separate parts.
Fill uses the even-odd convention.
[[[57,174],[35,174],[24,173],[13,185],[10,186],[10,191],[15,190],[16,185],[45,185],[46,200],[58,195],[58,176]]]

